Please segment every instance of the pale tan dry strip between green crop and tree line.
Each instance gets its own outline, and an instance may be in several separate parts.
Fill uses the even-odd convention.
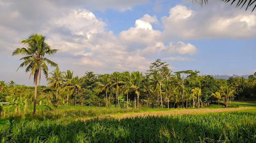
[[[246,109],[253,109],[253,107],[240,107],[240,108],[220,108],[220,109],[181,109],[181,110],[171,110],[171,111],[154,111],[145,113],[129,113],[124,115],[110,115],[108,117],[113,117],[117,119],[130,118],[130,117],[140,117],[140,116],[164,116],[164,115],[184,115],[184,114],[201,114],[201,113],[218,113],[225,111],[240,111]],[[103,117],[104,118],[104,117]]]

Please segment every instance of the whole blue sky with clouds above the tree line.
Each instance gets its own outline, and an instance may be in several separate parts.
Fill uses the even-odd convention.
[[[256,11],[220,0],[0,0],[0,80],[33,86],[33,76],[18,69],[22,55],[11,56],[32,33],[59,50],[46,58],[79,77],[146,73],[156,59],[173,72],[256,72]]]

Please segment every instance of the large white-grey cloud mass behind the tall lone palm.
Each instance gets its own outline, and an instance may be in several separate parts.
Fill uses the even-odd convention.
[[[36,7],[38,11],[28,13],[31,17],[26,17],[28,12],[26,6],[19,2],[0,6],[0,11],[1,8],[8,9],[4,11],[8,12],[4,13],[5,15],[0,14],[0,17],[3,19],[6,19],[3,15],[9,17],[8,22],[0,23],[1,54],[11,53],[15,48],[22,47],[23,45],[18,41],[27,38],[28,33],[42,33],[47,36],[47,43],[51,48],[60,50],[49,58],[58,63],[62,71],[70,69],[82,76],[85,71],[94,71],[97,74],[113,71],[146,71],[150,63],[159,56],[164,58],[170,54],[195,54],[197,51],[190,43],[168,41],[166,43],[169,44],[166,45],[162,39],[162,31],[152,26],[159,24],[155,15],[142,15],[134,21],[134,26],[114,34],[106,30],[106,22],[88,9],[74,5],[76,9],[66,6],[72,5],[70,1],[63,1],[60,7],[56,7],[56,1],[44,2],[40,3],[41,6],[49,7],[49,11]],[[136,4],[135,1],[133,2],[124,2],[126,4],[123,8],[132,7]],[[122,7],[118,4],[116,6]],[[63,12],[59,12],[58,9]],[[36,15],[43,18],[37,18]],[[9,64],[16,65],[13,70],[17,69],[17,59],[15,59],[17,63],[14,64],[12,61],[13,63]]]

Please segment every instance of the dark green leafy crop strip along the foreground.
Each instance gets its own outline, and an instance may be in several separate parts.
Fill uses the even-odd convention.
[[[147,116],[87,121],[8,120],[1,143],[255,143],[256,113]]]

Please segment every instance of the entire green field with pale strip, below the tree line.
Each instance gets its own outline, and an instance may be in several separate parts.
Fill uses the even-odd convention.
[[[242,106],[245,104],[246,106]],[[1,143],[256,143],[256,108],[38,107],[1,118]],[[24,115],[26,114],[26,115]]]

